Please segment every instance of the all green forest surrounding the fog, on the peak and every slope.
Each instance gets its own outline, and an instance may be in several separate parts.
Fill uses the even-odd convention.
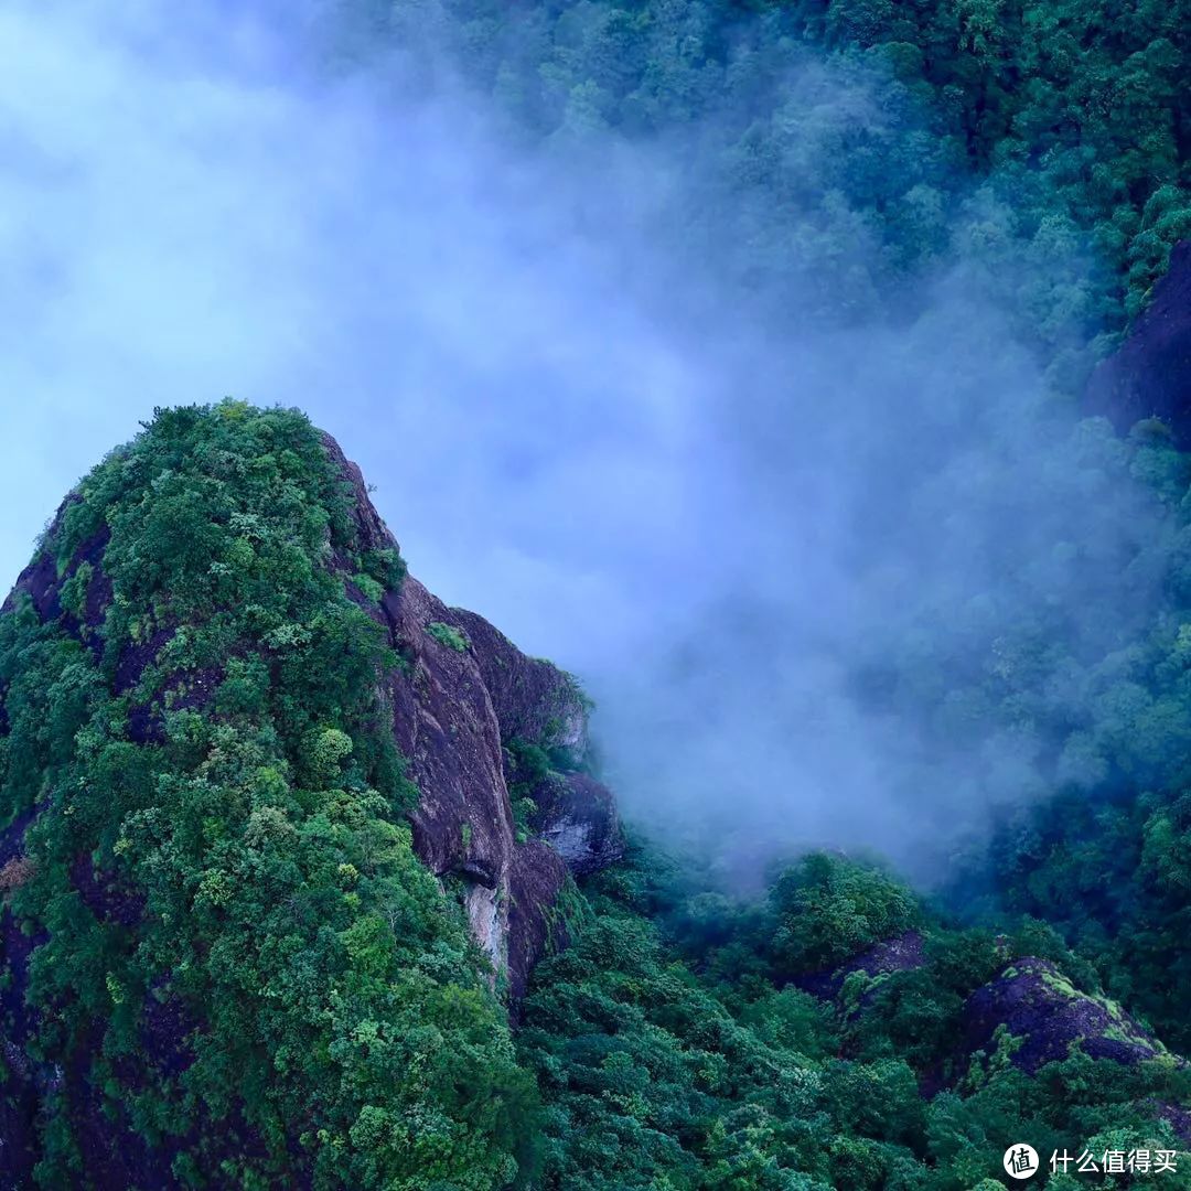
[[[1191,233],[1189,18],[1104,0],[326,18],[336,69],[407,55],[419,86],[462,79],[560,162],[665,146],[688,202],[659,233],[779,332],[909,319],[961,268],[1037,355],[1084,499],[1127,485],[1145,507],[1154,529],[1114,565],[1146,599],[1089,635],[1017,569],[979,625],[915,607],[904,648],[856,659],[858,698],[929,705],[941,754],[990,725],[1041,742],[1042,796],[931,896],[816,852],[742,897],[630,824],[621,860],[563,886],[518,998],[414,850],[380,680],[414,669],[382,631],[403,560],[363,535],[299,412],[158,411],[39,544],[55,616],[21,591],[0,617],[0,1129],[27,1071],[50,1072],[29,1185],[110,1185],[92,1161],[111,1129],[195,1187],[1191,1186],[1191,459],[1159,422],[1078,420]],[[1029,623],[998,618],[1031,600]],[[474,646],[426,632],[448,661]],[[504,756],[522,844],[544,834],[543,782],[597,768],[545,736]],[[1025,1184],[1002,1165],[1019,1141],[1043,1155]],[[1046,1168],[1142,1148],[1181,1168]],[[4,1161],[0,1186],[24,1185]]]

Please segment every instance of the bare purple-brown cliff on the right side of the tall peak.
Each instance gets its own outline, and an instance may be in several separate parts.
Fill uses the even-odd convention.
[[[360,469],[332,438],[325,444],[353,487],[364,547],[395,549]],[[464,883],[472,934],[507,973],[516,1000],[535,960],[565,941],[555,899],[568,868],[594,872],[618,859],[622,844],[611,793],[580,772],[550,775],[569,797],[534,824],[540,840],[518,842],[504,749],[525,741],[582,766],[587,704],[570,675],[526,657],[482,617],[447,607],[412,576],[385,593],[380,615],[403,659],[389,693],[393,735],[422,794],[414,848],[438,877]],[[578,834],[575,823],[584,824]]]

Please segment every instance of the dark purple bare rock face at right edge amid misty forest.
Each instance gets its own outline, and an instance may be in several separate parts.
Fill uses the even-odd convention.
[[[1191,241],[1171,252],[1153,300],[1116,355],[1092,374],[1084,404],[1120,431],[1161,418],[1177,445],[1191,444]]]

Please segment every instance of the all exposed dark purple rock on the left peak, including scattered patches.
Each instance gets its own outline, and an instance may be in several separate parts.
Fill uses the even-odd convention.
[[[317,439],[307,437],[304,444],[317,456]],[[462,903],[472,936],[491,958],[493,983],[507,991],[510,1015],[516,1019],[534,964],[547,949],[567,941],[560,893],[568,871],[591,872],[621,853],[612,797],[586,772],[587,704],[569,675],[526,657],[482,618],[444,606],[416,579],[403,576],[397,542],[373,506],[358,468],[332,439],[324,437],[322,447],[350,498],[355,534],[336,538],[326,526],[324,549],[319,549],[316,522],[311,536],[303,540],[308,551],[304,561],[326,567],[343,580],[343,592],[382,628],[398,659],[395,666],[364,681],[379,684],[384,698],[378,705],[392,711],[394,743],[406,761],[406,775],[417,786],[418,800],[409,812],[413,847],[444,892]],[[232,470],[242,462],[218,453],[197,457],[200,467]],[[326,480],[333,487],[332,476],[320,474],[318,482]],[[88,528],[80,531],[82,540],[69,557],[56,556],[80,499],[70,495],[63,503],[44,548],[19,576],[4,609],[19,604],[31,631],[38,631],[39,622],[52,626],[48,640],[64,635],[91,650],[100,665],[82,667],[88,681],[107,684],[105,697],[126,697],[120,744],[133,750],[157,744],[164,740],[163,709],[214,711],[236,649],[212,653],[172,673],[170,650],[189,628],[185,617],[175,622],[154,616],[146,618],[143,631],[138,625],[131,634],[110,634],[107,618],[117,597],[105,568],[114,572],[120,537],[108,529],[104,510],[94,519],[98,528],[92,529],[94,520],[88,520]],[[143,503],[152,500],[146,490]],[[168,532],[168,516],[162,522]],[[351,545],[333,547],[336,541]],[[357,548],[361,554],[354,557],[336,553]],[[381,551],[387,560],[384,568],[373,568],[388,576],[387,588],[374,574],[361,573],[362,554],[369,551]],[[335,584],[328,590],[335,592],[336,601],[342,599]],[[31,615],[24,611],[21,597],[27,597]],[[375,650],[375,656],[386,651]],[[145,684],[150,667],[155,669]],[[8,681],[14,679],[7,672],[0,675],[0,747],[8,746],[4,737],[11,736],[12,728]],[[145,697],[148,686],[160,694]],[[141,698],[148,701],[138,703]],[[524,813],[515,817],[510,799],[516,749],[547,757],[542,781],[566,791],[556,803],[543,799],[532,823]],[[30,768],[36,769],[33,762]],[[36,791],[38,774],[26,777]],[[38,877],[37,858],[45,849],[31,833],[50,800],[27,803],[19,804],[11,822],[0,819],[0,1191],[33,1185],[33,1167],[45,1153],[46,1121],[64,1103],[70,1105],[71,1136],[79,1165],[89,1172],[88,1185],[179,1185],[172,1162],[193,1151],[200,1135],[208,1159],[216,1162],[213,1168],[223,1156],[262,1154],[260,1130],[238,1111],[222,1117],[216,1128],[200,1106],[187,1135],[167,1136],[160,1145],[150,1145],[123,1118],[123,1123],[116,1121],[112,1097],[93,1078],[106,1037],[99,1016],[54,1059],[38,1058],[36,1049],[31,1054],[29,1042],[45,1017],[44,1003],[31,1008],[26,994],[36,981],[36,949],[51,939],[40,927],[26,933],[30,922],[12,911],[11,894]],[[83,850],[69,858],[61,878],[80,917],[93,916],[96,924],[116,924],[126,928],[126,936],[135,936],[146,900],[143,890],[123,884],[119,871],[100,871],[93,853]],[[142,1053],[156,1072],[173,1077],[194,1061],[193,1039],[206,1023],[197,1006],[173,994],[168,974],[156,979],[143,1002],[137,1024]],[[118,1075],[132,1080],[129,1086],[137,1078],[131,1067],[121,1067]]]

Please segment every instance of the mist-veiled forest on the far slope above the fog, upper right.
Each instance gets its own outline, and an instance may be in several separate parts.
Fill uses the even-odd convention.
[[[345,10],[349,58],[413,46],[559,151],[680,145],[675,236],[787,316],[904,299],[960,244],[1070,381],[1067,354],[1118,333],[1191,230],[1177,4]]]

